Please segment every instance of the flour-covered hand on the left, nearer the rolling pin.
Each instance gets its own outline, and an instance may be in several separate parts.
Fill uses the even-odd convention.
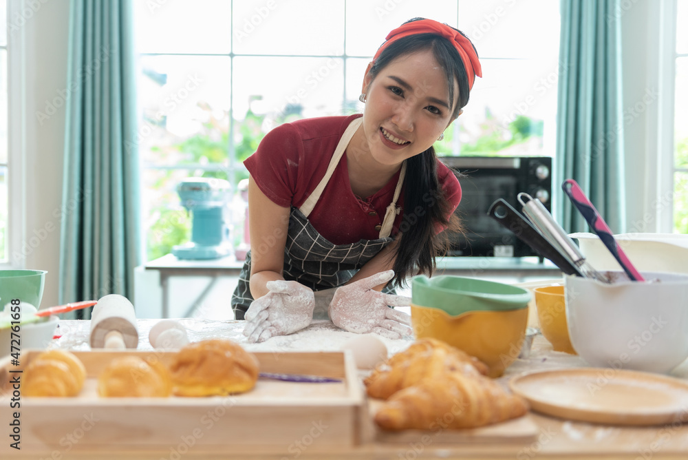
[[[264,342],[275,335],[300,331],[313,319],[312,289],[285,280],[268,281],[266,287],[270,292],[251,302],[244,315],[248,342]]]

